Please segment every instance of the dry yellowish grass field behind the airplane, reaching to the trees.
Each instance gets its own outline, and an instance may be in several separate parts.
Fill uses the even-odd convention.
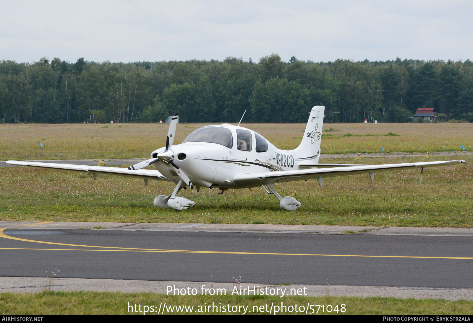
[[[181,143],[204,124],[179,124]],[[306,124],[242,124],[280,149],[300,144]],[[166,124],[3,124],[0,160],[147,158],[166,144]],[[324,124],[322,153],[459,151],[473,149],[473,123]],[[385,136],[389,132],[399,136]],[[39,142],[44,144],[39,147]]]

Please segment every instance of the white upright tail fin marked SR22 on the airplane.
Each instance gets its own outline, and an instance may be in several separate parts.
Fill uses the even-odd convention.
[[[306,131],[300,145],[292,151],[294,158],[299,162],[319,163],[320,141],[322,139],[322,125],[324,124],[325,107],[316,105],[312,108],[307,121]]]

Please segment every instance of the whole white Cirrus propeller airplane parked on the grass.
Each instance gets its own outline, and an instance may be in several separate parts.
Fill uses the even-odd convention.
[[[151,158],[125,168],[56,164],[31,161],[7,161],[10,165],[76,170],[97,174],[131,176],[168,180],[176,184],[174,191],[158,195],[154,206],[185,210],[194,205],[187,198],[176,196],[181,188],[217,188],[223,194],[229,188],[250,188],[262,186],[268,194],[280,200],[281,210],[294,211],[300,202],[291,196],[281,197],[274,189],[275,183],[296,180],[317,179],[320,187],[326,177],[369,174],[374,181],[378,171],[406,170],[424,167],[446,166],[465,161],[428,161],[385,165],[319,164],[322,124],[322,106],[310,111],[306,131],[300,145],[294,150],[281,150],[253,130],[232,126],[228,123],[201,127],[193,131],[182,144],[173,145],[177,123],[177,113],[173,117],[167,133],[166,147],[156,149]],[[243,118],[243,117],[242,117]],[[241,122],[241,120],[240,120]],[[142,168],[154,165],[156,170]]]

